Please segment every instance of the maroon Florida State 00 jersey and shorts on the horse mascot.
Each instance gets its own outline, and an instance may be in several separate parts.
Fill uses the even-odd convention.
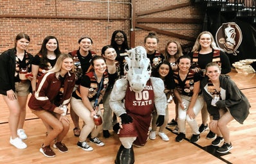
[[[133,117],[133,122],[122,124],[119,137],[137,136],[134,145],[143,146],[147,142],[151,113],[154,110],[154,91],[151,80],[142,92],[133,92],[130,85],[125,94],[125,109],[128,115]]]

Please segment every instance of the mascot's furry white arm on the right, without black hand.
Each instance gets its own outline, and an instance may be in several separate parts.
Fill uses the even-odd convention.
[[[165,85],[160,78],[151,77],[151,82],[154,90],[154,105],[158,115],[165,115],[165,109],[167,108],[167,98],[165,95]]]

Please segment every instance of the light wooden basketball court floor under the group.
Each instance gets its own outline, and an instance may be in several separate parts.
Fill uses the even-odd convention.
[[[165,129],[165,133],[170,138],[169,142],[157,136],[156,140],[149,140],[144,147],[134,147],[135,163],[256,163],[256,76],[238,74],[235,70],[229,75],[248,97],[251,109],[243,125],[235,120],[229,124],[233,149],[228,154],[215,153],[215,147],[211,146],[212,140],[206,139],[208,131],[201,134],[199,142],[190,143],[192,134],[187,125],[188,139],[183,142],[175,142],[176,134],[171,132],[174,127],[169,127]],[[53,148],[57,156],[46,158],[39,152],[42,140],[46,136],[46,128],[41,119],[33,115],[29,108],[24,124],[24,130],[28,135],[28,139],[24,142],[28,147],[23,150],[16,149],[9,143],[9,111],[3,97],[0,97],[0,109],[0,163],[114,163],[120,141],[113,131],[110,138],[103,138],[100,133],[99,138],[105,142],[104,147],[89,143],[94,150],[87,152],[77,147],[78,138],[73,135],[72,122],[69,133],[63,140],[69,152],[61,153]],[[174,118],[174,115],[174,104],[170,104],[169,119]],[[197,123],[201,124],[201,114],[197,115]],[[82,125],[82,122],[80,124]]]

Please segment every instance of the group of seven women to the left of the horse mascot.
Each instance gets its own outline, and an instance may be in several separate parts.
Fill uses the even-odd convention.
[[[117,36],[117,37],[116,37]],[[18,149],[27,147],[24,140],[28,138],[23,126],[26,117],[26,102],[32,93],[28,106],[46,126],[46,139],[40,151],[47,157],[54,157],[53,147],[60,152],[68,152],[62,140],[69,131],[69,119],[66,117],[67,106],[71,102],[71,119],[74,122],[74,135],[79,136],[78,147],[86,151],[93,150],[87,145],[86,138],[98,146],[104,145],[97,135],[100,126],[95,127],[93,117],[102,115],[98,108],[103,101],[107,104],[114,80],[120,76],[120,64],[116,56],[125,53],[128,48],[127,37],[121,30],[114,31],[116,42],[102,49],[102,56],[91,51],[93,40],[81,37],[79,48],[68,54],[61,53],[56,37],[44,38],[41,50],[35,56],[27,53],[30,37],[19,33],[15,38],[15,47],[3,52],[1,63],[1,94],[9,111],[10,143]],[[126,40],[126,41],[125,41]],[[10,67],[11,66],[11,67]],[[10,67],[10,69],[9,69]],[[107,70],[107,71],[106,71]],[[109,85],[108,85],[109,84]],[[104,92],[107,91],[103,100]],[[110,108],[104,110],[105,131],[112,128]],[[84,124],[79,126],[79,117]],[[105,137],[109,133],[105,133]],[[108,136],[107,136],[108,135]]]

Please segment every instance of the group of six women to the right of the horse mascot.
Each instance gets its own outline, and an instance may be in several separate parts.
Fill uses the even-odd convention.
[[[152,33],[149,33],[150,35]],[[186,122],[192,129],[190,142],[197,142],[200,133],[208,127],[207,119],[210,113],[210,132],[206,138],[214,139],[212,141],[214,146],[219,146],[224,141],[221,147],[216,148],[217,152],[230,151],[232,143],[227,124],[233,119],[242,124],[248,117],[250,103],[232,79],[224,75],[231,70],[228,56],[217,48],[214,37],[208,31],[198,35],[192,52],[185,55],[182,54],[178,42],[169,42],[165,47],[164,60],[161,60],[161,54],[156,56],[156,51],[152,51],[152,47],[158,43],[158,38],[149,38],[145,38],[145,47],[152,67],[158,61],[152,75],[163,79],[165,91],[169,92],[167,102],[172,102],[170,100],[173,99],[176,103],[176,118],[170,122],[177,121],[177,127],[174,129],[178,133],[176,142],[181,142],[186,137]],[[170,97],[172,93],[174,97]],[[198,127],[196,116],[200,111],[203,124]],[[166,115],[168,116],[168,108]],[[152,140],[156,138],[155,122],[153,113],[152,129],[149,134]],[[165,121],[163,126],[166,125]],[[169,141],[167,135],[163,133],[163,127],[160,127],[158,135],[162,140]]]

